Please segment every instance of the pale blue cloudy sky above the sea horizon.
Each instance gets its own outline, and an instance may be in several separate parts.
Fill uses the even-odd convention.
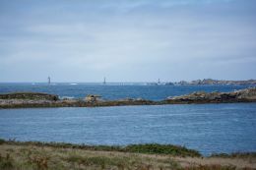
[[[1,0],[0,82],[256,79],[255,0]]]

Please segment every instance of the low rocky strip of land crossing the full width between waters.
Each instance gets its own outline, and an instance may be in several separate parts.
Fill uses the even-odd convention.
[[[88,95],[85,99],[60,99],[54,94],[39,92],[15,92],[0,94],[0,108],[32,107],[97,107],[124,105],[162,105],[162,104],[200,104],[200,103],[234,103],[256,102],[256,87],[231,92],[196,91],[190,94],[167,97],[160,101],[143,98],[126,98],[119,100],[100,100],[98,95]]]

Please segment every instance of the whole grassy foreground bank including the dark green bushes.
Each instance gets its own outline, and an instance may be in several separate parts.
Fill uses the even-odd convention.
[[[234,170],[255,169],[251,154],[202,157],[183,146],[132,144],[79,145],[0,140],[1,170]]]

